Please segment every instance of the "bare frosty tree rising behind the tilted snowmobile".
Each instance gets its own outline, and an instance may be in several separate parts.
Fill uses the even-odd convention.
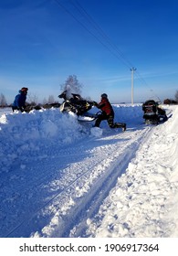
[[[79,83],[79,80],[77,79],[76,75],[70,75],[68,76],[68,79],[64,84],[61,85],[62,91],[67,91],[68,94],[71,93],[81,93],[82,84]]]

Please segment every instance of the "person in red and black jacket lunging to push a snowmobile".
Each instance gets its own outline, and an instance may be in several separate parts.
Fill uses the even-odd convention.
[[[108,95],[106,93],[103,93],[100,97],[101,101],[99,102],[99,104],[97,102],[94,103],[94,105],[101,110],[101,113],[99,114],[95,122],[95,126],[99,127],[101,121],[107,120],[110,128],[122,128],[123,131],[125,131],[126,123],[114,123],[114,111],[112,109],[110,101],[108,100]]]

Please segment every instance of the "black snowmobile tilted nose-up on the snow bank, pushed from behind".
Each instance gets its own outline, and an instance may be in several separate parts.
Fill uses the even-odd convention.
[[[68,99],[67,91],[63,91],[59,94],[58,98],[64,99],[60,105],[61,112],[75,112],[78,116],[86,116],[92,120],[97,118],[96,114],[88,113],[94,105],[93,101],[85,100],[79,94],[75,93],[71,93],[71,98]]]

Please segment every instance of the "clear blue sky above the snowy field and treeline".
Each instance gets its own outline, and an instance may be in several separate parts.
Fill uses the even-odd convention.
[[[0,93],[58,101],[76,75],[83,97],[131,102],[134,67],[134,102],[174,98],[177,13],[177,0],[0,0]]]

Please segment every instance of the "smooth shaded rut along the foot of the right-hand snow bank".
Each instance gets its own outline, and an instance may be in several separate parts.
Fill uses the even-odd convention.
[[[149,129],[145,131],[143,137],[146,136],[150,131]],[[138,134],[137,134],[138,135]],[[106,169],[106,173],[99,178],[91,187],[89,195],[86,195],[81,200],[80,206],[78,206],[78,211],[72,210],[69,219],[75,219],[73,223],[70,223],[70,232],[62,234],[62,236],[67,237],[88,237],[86,229],[88,229],[89,219],[92,219],[94,215],[98,212],[100,205],[102,205],[103,200],[108,197],[110,190],[115,187],[117,179],[125,172],[128,163],[131,161],[131,158],[135,155],[135,150],[138,148],[139,144],[143,138],[139,136],[135,137],[131,144],[123,145],[123,143],[116,144],[122,147],[122,150],[114,151],[110,153],[110,156],[107,157],[107,161],[110,162]],[[115,136],[116,139],[117,136]],[[124,159],[124,160],[123,160]],[[99,167],[99,166],[98,166]],[[68,222],[67,222],[68,223]],[[78,224],[76,224],[78,223]],[[67,225],[68,226],[68,225]],[[73,227],[73,229],[71,229]],[[67,230],[67,229],[65,229]],[[61,235],[60,235],[61,236]]]

